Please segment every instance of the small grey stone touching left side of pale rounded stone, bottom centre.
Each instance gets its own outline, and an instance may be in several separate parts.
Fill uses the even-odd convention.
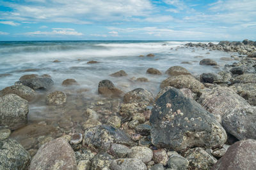
[[[114,143],[113,145],[111,145],[109,152],[111,153],[111,155],[117,158],[125,158],[131,152],[131,149],[125,145]]]

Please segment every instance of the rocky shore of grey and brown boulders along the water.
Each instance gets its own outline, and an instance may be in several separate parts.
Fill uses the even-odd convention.
[[[61,91],[50,75],[20,77],[0,91],[0,169],[255,169],[256,41],[184,48],[238,55],[223,58],[236,62],[219,73],[195,76],[184,67],[170,67],[157,96],[142,88],[123,92],[102,80],[95,101],[82,95],[86,89],[74,92],[79,83],[71,78]],[[207,58],[198,64],[218,66]],[[163,75],[153,67],[145,73]],[[28,123],[29,104],[35,101],[47,106],[44,114],[52,124]],[[83,117],[77,115],[80,110]],[[63,118],[55,121],[60,114]]]

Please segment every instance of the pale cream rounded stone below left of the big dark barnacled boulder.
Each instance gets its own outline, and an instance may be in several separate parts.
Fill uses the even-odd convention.
[[[147,163],[153,158],[153,152],[147,147],[134,146],[131,148],[129,158],[140,159],[142,162]]]

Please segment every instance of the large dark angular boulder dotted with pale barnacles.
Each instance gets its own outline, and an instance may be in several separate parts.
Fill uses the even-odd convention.
[[[178,89],[170,89],[157,99],[150,123],[151,141],[157,148],[180,152],[195,146],[220,148],[227,141],[216,118]]]

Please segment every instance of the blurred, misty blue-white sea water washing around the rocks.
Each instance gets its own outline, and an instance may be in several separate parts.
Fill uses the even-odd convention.
[[[29,123],[50,120],[56,122],[65,115],[67,120],[71,119],[70,121],[72,121],[72,115],[75,113],[77,119],[83,117],[84,110],[88,108],[88,101],[101,99],[97,94],[98,83],[101,80],[113,81],[116,87],[124,92],[141,87],[150,90],[156,96],[160,90],[161,81],[167,78],[164,72],[169,67],[182,66],[198,76],[208,72],[218,73],[225,69],[225,64],[235,62],[234,60],[223,61],[220,58],[230,57],[236,53],[185,48],[184,44],[186,43],[189,42],[1,41],[0,90],[14,85],[15,81],[19,81],[20,76],[24,74],[49,74],[54,81],[54,87],[45,94],[39,93],[40,97],[29,104]],[[154,53],[155,57],[147,57],[148,53]],[[140,55],[144,55],[144,57],[139,57]],[[200,66],[200,60],[205,58],[216,60],[219,67]],[[54,60],[60,62],[53,62]],[[90,60],[99,63],[87,64]],[[189,62],[189,64],[182,64],[182,62]],[[159,69],[163,75],[147,74],[146,71],[149,67]],[[118,78],[109,76],[121,69],[128,76]],[[7,74],[7,76],[3,74]],[[149,82],[134,81],[140,77],[148,78]],[[62,81],[67,78],[74,78],[79,85],[76,87],[61,86]],[[80,91],[77,92],[76,90],[79,89]],[[81,92],[81,89],[86,90]],[[54,90],[62,90],[68,94],[68,106],[64,108],[45,106],[45,95]]]

